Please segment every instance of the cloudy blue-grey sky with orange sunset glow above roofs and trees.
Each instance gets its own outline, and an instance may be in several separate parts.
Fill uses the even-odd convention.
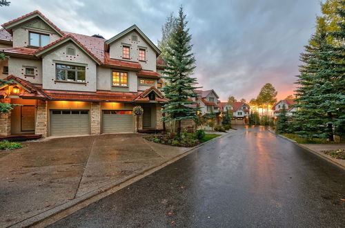
[[[255,98],[270,82],[278,99],[293,93],[303,51],[319,15],[319,0],[11,1],[0,23],[40,10],[61,30],[106,39],[137,24],[155,43],[170,12],[183,3],[197,59],[194,77],[222,101]]]

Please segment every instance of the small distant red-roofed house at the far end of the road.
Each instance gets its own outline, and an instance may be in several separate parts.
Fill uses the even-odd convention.
[[[250,111],[250,106],[244,102],[232,102],[228,104],[228,102],[221,102],[219,104],[219,108],[223,113],[230,111],[233,113],[233,117],[231,118],[232,124],[247,124],[248,123],[248,116]]]

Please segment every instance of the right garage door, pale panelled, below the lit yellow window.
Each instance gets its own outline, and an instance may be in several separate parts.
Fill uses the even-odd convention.
[[[132,111],[103,110],[102,133],[125,133],[133,131]]]

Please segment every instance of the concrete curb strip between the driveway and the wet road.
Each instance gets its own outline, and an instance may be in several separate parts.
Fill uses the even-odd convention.
[[[58,205],[57,207],[53,207],[52,209],[43,211],[35,216],[26,218],[25,220],[21,220],[20,222],[17,222],[8,227],[46,227],[56,222],[57,220],[60,220],[61,218],[64,218],[74,213],[75,211],[82,209],[83,207],[87,207],[93,202],[101,200],[102,198],[105,198],[106,196],[109,196],[110,194],[115,193],[116,191],[119,191],[120,189],[123,189],[124,187],[127,187],[128,185],[134,182],[137,182],[138,180],[142,178],[145,178],[147,175],[150,175],[154,173],[155,171],[158,171],[159,169],[162,169],[168,166],[168,164],[171,164],[181,158],[184,158],[186,155],[193,153],[195,149],[198,149],[199,147],[204,146],[204,144],[218,140],[221,137],[225,137],[226,135],[229,135],[230,133],[231,132],[228,132],[224,135],[215,137],[212,140],[208,140],[207,142],[198,144],[197,146],[190,147],[190,149],[188,149],[184,153],[181,153],[180,155],[177,155],[166,162],[157,164],[155,167],[150,167],[148,169],[144,169],[140,173],[132,174],[121,182],[116,182],[116,181],[110,182],[109,184],[106,184],[103,187],[99,187],[98,189],[92,190],[88,193],[85,193],[82,196],[79,196],[78,198],[75,198],[68,202],[64,202],[63,204]]]

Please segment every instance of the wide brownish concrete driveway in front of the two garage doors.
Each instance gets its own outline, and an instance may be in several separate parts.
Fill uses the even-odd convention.
[[[187,151],[138,134],[63,137],[0,152],[0,227],[122,182]]]

